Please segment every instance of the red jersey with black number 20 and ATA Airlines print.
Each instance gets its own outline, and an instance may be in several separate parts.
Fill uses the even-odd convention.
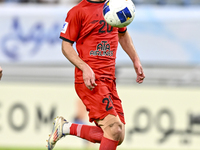
[[[111,27],[103,18],[104,2],[82,0],[67,14],[60,38],[76,42],[79,57],[94,71],[95,78],[115,78],[118,32],[125,28]],[[75,82],[83,82],[82,71],[75,69]]]

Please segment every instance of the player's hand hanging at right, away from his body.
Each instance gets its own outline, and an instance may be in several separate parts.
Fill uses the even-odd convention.
[[[136,82],[137,83],[142,83],[144,78],[145,78],[145,75],[144,75],[144,72],[143,72],[143,69],[142,69],[142,65],[140,64],[140,62],[135,62],[134,63],[134,68],[135,68],[135,72],[137,74]]]

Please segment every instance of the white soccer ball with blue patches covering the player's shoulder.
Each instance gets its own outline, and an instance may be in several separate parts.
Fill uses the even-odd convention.
[[[132,0],[107,0],[103,7],[105,21],[118,28],[128,26],[135,17],[135,5]]]

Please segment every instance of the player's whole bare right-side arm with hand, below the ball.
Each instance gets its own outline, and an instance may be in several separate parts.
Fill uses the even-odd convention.
[[[143,68],[142,68],[140,59],[139,59],[138,54],[133,45],[131,36],[129,35],[128,31],[126,31],[124,33],[119,33],[118,36],[119,36],[119,43],[120,43],[121,47],[128,54],[128,56],[130,57],[130,59],[133,62],[135,72],[137,74],[136,82],[142,83],[145,78],[145,75],[143,72]]]

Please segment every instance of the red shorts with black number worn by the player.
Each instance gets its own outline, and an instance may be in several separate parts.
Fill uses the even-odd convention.
[[[97,86],[92,91],[84,83],[75,83],[76,93],[89,111],[90,122],[112,114],[118,115],[121,122],[125,124],[124,112],[115,81],[101,78],[96,80],[96,83]]]

